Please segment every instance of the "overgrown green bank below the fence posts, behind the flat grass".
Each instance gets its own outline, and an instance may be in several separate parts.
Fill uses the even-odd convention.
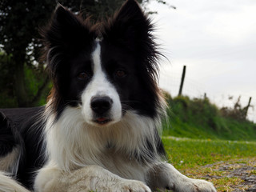
[[[208,98],[166,97],[170,106],[164,135],[186,138],[256,140],[256,124],[226,117]]]

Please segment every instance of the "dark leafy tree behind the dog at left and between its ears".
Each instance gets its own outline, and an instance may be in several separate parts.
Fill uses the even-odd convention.
[[[162,0],[155,1],[166,3]],[[58,2],[72,11],[82,12],[84,17],[88,14],[92,15],[93,20],[97,21],[98,18],[113,14],[124,0],[59,0]],[[142,3],[142,0],[138,2]],[[150,0],[143,3],[148,2]],[[50,79],[44,74],[45,63],[39,62],[42,43],[38,30],[40,26],[46,24],[55,6],[56,2],[52,0],[1,0],[0,2],[0,48],[2,46],[0,70],[6,71],[0,74],[1,76],[6,74],[0,78],[0,81],[3,81],[0,85],[4,90],[8,84],[7,88],[12,90],[5,92],[6,97],[13,97],[16,100],[12,106],[36,106],[42,94],[49,90]],[[27,73],[34,74],[33,81],[38,86],[33,93],[27,86],[28,82],[33,82]]]

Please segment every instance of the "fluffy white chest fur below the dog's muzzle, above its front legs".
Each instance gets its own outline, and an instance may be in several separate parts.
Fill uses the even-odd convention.
[[[130,161],[134,153],[146,153],[146,138],[154,141],[155,126],[153,119],[142,117],[134,111],[126,112],[122,120],[114,125],[92,126],[85,122],[81,107],[66,107],[57,122],[52,116],[47,121],[47,150],[50,159],[61,170],[99,165],[116,172],[122,170],[120,163],[116,167],[118,160],[125,160],[122,157]],[[138,178],[136,170],[138,167],[129,167],[122,170],[122,173],[127,172],[122,176]]]

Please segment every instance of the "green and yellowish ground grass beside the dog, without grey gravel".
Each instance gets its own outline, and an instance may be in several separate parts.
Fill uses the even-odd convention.
[[[256,166],[256,142],[231,142],[190,138],[163,137],[169,162],[190,178],[202,178],[214,183],[218,191],[232,191],[241,184],[239,177],[228,177],[218,168],[225,163]],[[206,166],[212,164],[212,166]],[[255,174],[251,170],[249,174]],[[240,186],[246,190],[247,186]]]

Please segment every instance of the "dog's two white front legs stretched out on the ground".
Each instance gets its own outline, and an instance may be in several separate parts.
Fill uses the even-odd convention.
[[[155,171],[155,170],[158,170]],[[154,167],[150,173],[151,187],[158,186],[161,191],[166,187],[181,192],[216,192],[210,182],[187,178],[167,163]],[[144,182],[119,177],[101,166],[85,166],[71,172],[63,172],[54,166],[43,168],[36,179],[35,191],[38,192],[150,192]]]

